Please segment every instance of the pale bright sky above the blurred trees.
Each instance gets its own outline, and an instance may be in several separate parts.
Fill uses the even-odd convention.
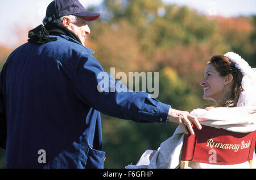
[[[35,27],[42,23],[46,7],[52,0],[2,1],[0,6],[0,45],[12,45],[15,41],[15,27]],[[122,1],[122,0],[121,0]],[[134,0],[139,1],[139,0]],[[256,15],[255,0],[162,0],[165,3],[187,5],[202,14],[224,17]],[[100,5],[102,0],[80,0],[85,7]],[[10,13],[11,12],[11,13]],[[10,39],[10,37],[13,37]]]

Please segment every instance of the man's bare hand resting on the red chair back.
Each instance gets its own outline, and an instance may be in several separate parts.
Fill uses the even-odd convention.
[[[187,111],[179,111],[173,108],[170,108],[169,110],[168,121],[173,123],[179,123],[180,127],[186,134],[188,134],[188,130],[192,133],[192,135],[195,134],[191,123],[195,124],[198,129],[202,128],[201,124],[195,116],[190,115]],[[188,130],[186,127],[188,128]]]

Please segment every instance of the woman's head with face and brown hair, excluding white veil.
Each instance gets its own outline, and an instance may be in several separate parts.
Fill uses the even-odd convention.
[[[243,90],[242,77],[243,74],[228,57],[213,56],[200,83],[204,87],[204,99],[214,101],[217,106],[236,107]]]

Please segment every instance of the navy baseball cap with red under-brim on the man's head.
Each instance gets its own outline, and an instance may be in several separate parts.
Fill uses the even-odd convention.
[[[54,0],[47,7],[46,18],[44,18],[43,23],[47,24],[64,15],[82,16],[87,21],[92,21],[100,17],[101,14],[86,11],[78,0]]]

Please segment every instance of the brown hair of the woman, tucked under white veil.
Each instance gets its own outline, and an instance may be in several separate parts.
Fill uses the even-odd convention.
[[[228,74],[232,74],[232,94],[218,103],[220,104],[220,107],[236,107],[238,98],[240,97],[240,94],[243,91],[241,85],[243,74],[240,72],[239,69],[236,68],[234,62],[230,61],[228,57],[222,55],[213,56],[212,58],[210,58],[208,64],[212,64],[222,77],[227,76]]]

